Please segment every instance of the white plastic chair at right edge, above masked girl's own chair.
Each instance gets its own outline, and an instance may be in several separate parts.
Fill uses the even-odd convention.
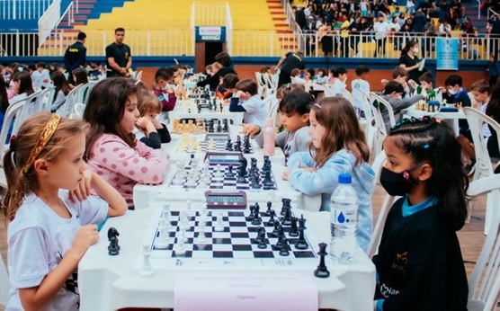
[[[478,111],[474,108],[464,107],[463,112],[467,117],[467,122],[469,123],[470,134],[472,136],[472,142],[474,143],[474,152],[476,154],[476,164],[474,165],[474,176],[473,181],[478,179],[491,176],[494,174],[494,167],[491,163],[491,158],[487,151],[487,138],[483,136],[483,125],[488,124],[496,134],[500,134],[500,125],[488,117],[486,114]],[[498,145],[500,146],[500,137],[498,138]],[[488,198],[489,199],[489,198]],[[469,217],[467,221],[469,222],[472,215],[472,208],[474,202],[469,202]],[[485,217],[485,234],[487,234],[488,227],[492,222],[492,210],[487,209]]]

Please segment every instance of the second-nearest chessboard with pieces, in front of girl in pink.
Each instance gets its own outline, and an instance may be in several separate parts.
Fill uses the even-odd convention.
[[[223,191],[271,191],[277,190],[278,186],[271,172],[272,184],[264,185],[264,175],[259,170],[259,187],[251,184],[251,173],[247,173],[246,182],[238,182],[237,167],[231,165],[206,165],[194,168],[191,165],[184,166],[183,176],[178,175],[179,170],[174,173],[174,178],[169,182],[171,190],[223,190]],[[205,179],[205,170],[209,170],[210,178]],[[232,172],[232,175],[229,173]]]

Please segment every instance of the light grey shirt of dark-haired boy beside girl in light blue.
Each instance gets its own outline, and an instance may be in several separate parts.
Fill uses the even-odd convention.
[[[290,155],[298,151],[308,151],[311,137],[308,133],[309,127],[302,127],[296,131],[282,131],[274,136],[274,146],[281,147],[285,154],[285,161],[288,161]],[[254,136],[255,142],[259,147],[263,147],[263,130]]]

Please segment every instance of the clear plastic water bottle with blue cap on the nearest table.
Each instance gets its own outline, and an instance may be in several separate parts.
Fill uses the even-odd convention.
[[[341,173],[330,199],[330,256],[342,264],[354,262],[358,249],[358,196],[351,183],[351,175]]]

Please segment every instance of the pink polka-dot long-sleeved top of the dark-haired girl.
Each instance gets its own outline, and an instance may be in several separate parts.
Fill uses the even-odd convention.
[[[132,148],[116,135],[103,134],[91,147],[87,167],[109,182],[133,207],[136,183],[163,182],[170,159],[165,151],[147,147],[141,141]]]

